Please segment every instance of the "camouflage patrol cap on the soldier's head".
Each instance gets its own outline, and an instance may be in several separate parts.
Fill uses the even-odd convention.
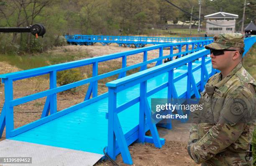
[[[223,50],[230,47],[244,47],[243,35],[241,33],[220,33],[213,36],[213,43],[205,46],[205,49]]]

